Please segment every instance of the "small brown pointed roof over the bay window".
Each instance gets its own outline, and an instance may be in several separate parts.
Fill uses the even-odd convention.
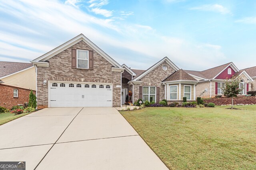
[[[197,81],[195,78],[190,76],[188,73],[186,73],[184,70],[180,69],[170,76],[168,76],[163,82],[170,82],[170,81],[176,81],[176,80],[189,80],[189,81]]]

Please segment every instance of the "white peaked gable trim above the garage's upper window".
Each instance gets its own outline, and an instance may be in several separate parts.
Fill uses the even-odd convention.
[[[54,57],[58,53],[66,50],[67,48],[71,47],[72,45],[75,45],[76,43],[84,41],[86,44],[88,44],[92,49],[94,49],[97,53],[99,53],[104,59],[106,59],[109,63],[111,63],[114,67],[123,68],[120,64],[118,64],[114,59],[112,59],[109,55],[107,55],[102,49],[100,49],[97,45],[95,45],[90,39],[88,39],[86,36],[84,36],[82,33],[73,39],[70,39],[66,43],[56,47],[52,51],[49,51],[48,53],[34,59],[33,61],[30,61],[33,64],[41,64],[41,66],[45,65],[48,66],[48,63],[45,62],[48,59]]]

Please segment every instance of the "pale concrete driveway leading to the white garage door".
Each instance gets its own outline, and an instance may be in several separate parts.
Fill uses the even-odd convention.
[[[26,161],[26,170],[168,169],[113,107],[46,108],[1,125],[0,161]]]

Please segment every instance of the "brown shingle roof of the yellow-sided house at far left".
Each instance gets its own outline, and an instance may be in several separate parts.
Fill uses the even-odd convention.
[[[32,67],[31,63],[16,63],[0,61],[0,78],[10,76],[10,74],[16,74],[22,70]]]

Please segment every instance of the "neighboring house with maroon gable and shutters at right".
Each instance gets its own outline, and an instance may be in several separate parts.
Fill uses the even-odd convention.
[[[184,70],[190,76],[198,80],[196,84],[196,96],[202,98],[212,98],[216,95],[222,95],[225,80],[232,76],[241,76],[242,80],[240,86],[244,88],[241,95],[251,90],[251,83],[254,82],[252,77],[246,70],[238,70],[238,68],[231,62],[204,71]]]

